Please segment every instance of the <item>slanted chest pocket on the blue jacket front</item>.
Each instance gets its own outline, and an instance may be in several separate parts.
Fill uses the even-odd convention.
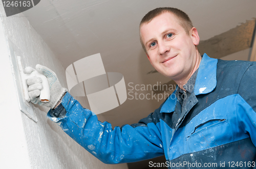
[[[217,118],[217,119],[210,119],[210,120],[206,120],[205,122],[202,122],[198,125],[191,125],[190,130],[188,130],[187,132],[187,136],[186,136],[186,140],[188,140],[189,138],[192,138],[196,135],[202,134],[203,132],[212,132],[216,130],[220,130],[221,129],[221,125],[227,123],[227,119],[226,118]],[[192,127],[193,126],[193,127]],[[217,127],[219,126],[219,127]]]

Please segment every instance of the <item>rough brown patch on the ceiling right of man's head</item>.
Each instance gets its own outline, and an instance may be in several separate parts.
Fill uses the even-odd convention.
[[[207,53],[209,57],[219,59],[250,48],[255,19],[247,20],[245,23],[208,40],[200,41],[198,45],[200,53]]]

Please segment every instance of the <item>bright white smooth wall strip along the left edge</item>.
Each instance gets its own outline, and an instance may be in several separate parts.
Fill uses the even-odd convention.
[[[8,48],[1,21],[0,55],[0,168],[21,168],[21,166],[22,168],[30,168],[22,114],[19,111]]]

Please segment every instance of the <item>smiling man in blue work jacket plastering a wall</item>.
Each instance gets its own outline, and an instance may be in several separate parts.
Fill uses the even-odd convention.
[[[40,65],[36,69],[48,77],[51,101],[38,100],[40,79],[31,78],[32,102],[51,107],[48,117],[105,163],[164,154],[166,166],[174,168],[254,167],[255,63],[201,57],[197,29],[175,8],[157,8],[146,14],[140,39],[153,67],[179,87],[139,123],[113,130],[108,122],[99,122],[92,111],[66,93],[54,72]]]

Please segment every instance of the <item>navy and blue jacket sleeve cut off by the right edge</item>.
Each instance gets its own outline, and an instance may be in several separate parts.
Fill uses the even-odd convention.
[[[241,78],[237,97],[237,116],[240,127],[250,136],[256,147],[256,65],[248,66]]]

